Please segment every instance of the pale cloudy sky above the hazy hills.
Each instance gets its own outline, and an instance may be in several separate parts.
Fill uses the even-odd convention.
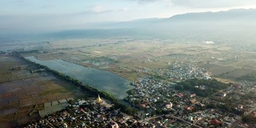
[[[0,0],[0,30],[82,29],[94,22],[256,8],[255,0]]]

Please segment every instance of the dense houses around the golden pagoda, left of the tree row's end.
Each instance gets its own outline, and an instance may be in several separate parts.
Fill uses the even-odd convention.
[[[65,110],[46,115],[37,121],[23,125],[23,128],[38,127],[143,127],[152,126],[152,123],[144,123],[133,116],[124,114],[120,109],[115,109],[112,104],[102,98],[75,99]]]

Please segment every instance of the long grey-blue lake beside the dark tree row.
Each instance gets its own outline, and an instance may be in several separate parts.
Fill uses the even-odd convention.
[[[134,88],[134,86],[130,86],[130,81],[106,70],[79,66],[61,59],[47,61],[41,61],[34,57],[26,57],[26,59],[43,66],[48,66],[50,69],[57,70],[62,74],[69,75],[72,78],[78,79],[83,84],[88,84],[98,90],[113,94],[118,99],[126,98],[128,96],[126,91]]]

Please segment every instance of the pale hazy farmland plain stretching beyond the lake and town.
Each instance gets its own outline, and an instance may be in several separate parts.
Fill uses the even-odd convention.
[[[255,52],[250,50],[250,46],[241,46],[241,50],[239,46],[225,43],[98,38],[58,40],[50,42],[48,47],[49,50],[23,56],[34,56],[40,60],[62,59],[81,66],[109,70],[130,81],[156,74],[155,70],[168,69],[175,62],[189,62],[206,68],[215,78],[233,80],[256,70]]]

